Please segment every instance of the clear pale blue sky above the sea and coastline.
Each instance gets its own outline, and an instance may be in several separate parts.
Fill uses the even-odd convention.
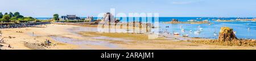
[[[110,8],[115,13],[171,17],[256,17],[256,0],[0,0],[0,12],[19,11],[32,17],[97,16]]]

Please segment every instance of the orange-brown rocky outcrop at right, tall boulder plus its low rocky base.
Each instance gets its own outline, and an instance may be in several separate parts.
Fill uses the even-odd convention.
[[[195,40],[188,42],[203,43],[207,45],[256,46],[256,40],[240,40],[234,34],[233,29],[229,27],[221,27],[218,40]]]

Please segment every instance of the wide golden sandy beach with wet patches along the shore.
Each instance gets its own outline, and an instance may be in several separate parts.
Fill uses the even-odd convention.
[[[98,33],[95,27],[47,24],[38,27],[1,29],[2,50],[247,50],[253,46],[220,46],[176,38],[146,39],[147,34]],[[34,33],[34,34],[33,34]],[[135,36],[135,37],[134,37]],[[197,40],[197,38],[192,38]],[[52,44],[42,45],[46,41]],[[10,45],[10,46],[9,46]]]

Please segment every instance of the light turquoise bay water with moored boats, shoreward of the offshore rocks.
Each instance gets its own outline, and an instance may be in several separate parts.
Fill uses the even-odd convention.
[[[214,33],[219,33],[221,27],[230,27],[236,33],[238,38],[253,38],[256,39],[256,22],[214,22],[214,24],[161,24],[160,31],[167,30],[168,32],[178,32],[181,34],[189,34],[189,37],[202,37],[202,38],[213,38],[216,39],[218,36],[214,36]],[[248,25],[249,24],[249,25]],[[165,28],[165,26],[169,26],[169,28]],[[185,32],[181,32],[180,26],[182,26]],[[199,27],[203,28],[201,33],[195,33],[195,31],[199,30]],[[248,29],[250,28],[250,29]],[[192,30],[192,32],[190,32]]]

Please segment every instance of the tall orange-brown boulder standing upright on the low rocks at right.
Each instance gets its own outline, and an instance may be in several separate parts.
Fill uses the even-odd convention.
[[[221,27],[220,36],[218,36],[218,41],[234,41],[237,40],[236,34],[234,34],[233,29],[229,27]]]

